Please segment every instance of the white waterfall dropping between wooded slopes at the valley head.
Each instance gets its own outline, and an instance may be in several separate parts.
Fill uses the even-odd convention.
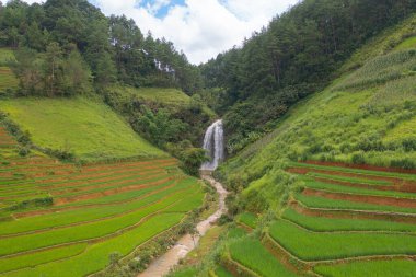
[[[203,148],[207,150],[210,161],[205,162],[201,170],[213,171],[219,162],[224,159],[224,138],[222,129],[222,120],[215,122],[208,127],[204,137]]]

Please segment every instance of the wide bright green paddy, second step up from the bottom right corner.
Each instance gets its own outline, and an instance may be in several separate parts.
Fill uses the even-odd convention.
[[[303,261],[326,261],[372,255],[414,255],[413,235],[389,233],[317,233],[277,220],[270,235]]]

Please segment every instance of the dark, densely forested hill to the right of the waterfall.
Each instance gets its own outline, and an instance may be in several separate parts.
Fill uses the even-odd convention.
[[[414,0],[304,0],[201,66],[205,97],[224,114],[229,152],[271,130],[290,105],[339,76],[357,47],[415,10]]]

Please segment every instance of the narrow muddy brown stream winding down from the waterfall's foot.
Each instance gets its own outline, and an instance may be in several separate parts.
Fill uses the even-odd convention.
[[[166,275],[175,265],[180,263],[181,258],[184,258],[187,253],[196,247],[199,239],[206,234],[206,232],[212,227],[212,223],[217,221],[221,215],[227,212],[226,197],[228,192],[211,176],[204,175],[203,178],[208,181],[217,189],[219,195],[218,210],[209,218],[197,224],[196,229],[199,232],[199,236],[194,239],[189,234],[182,236],[172,249],[153,261],[145,272],[138,275],[138,277],[161,277]]]

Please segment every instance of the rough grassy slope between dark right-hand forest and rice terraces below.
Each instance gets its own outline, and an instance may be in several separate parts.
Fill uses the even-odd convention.
[[[222,171],[230,183],[246,186],[281,158],[415,169],[416,48],[409,27],[415,22],[372,39],[340,69],[338,80],[231,159]],[[385,42],[394,43],[386,47]]]

